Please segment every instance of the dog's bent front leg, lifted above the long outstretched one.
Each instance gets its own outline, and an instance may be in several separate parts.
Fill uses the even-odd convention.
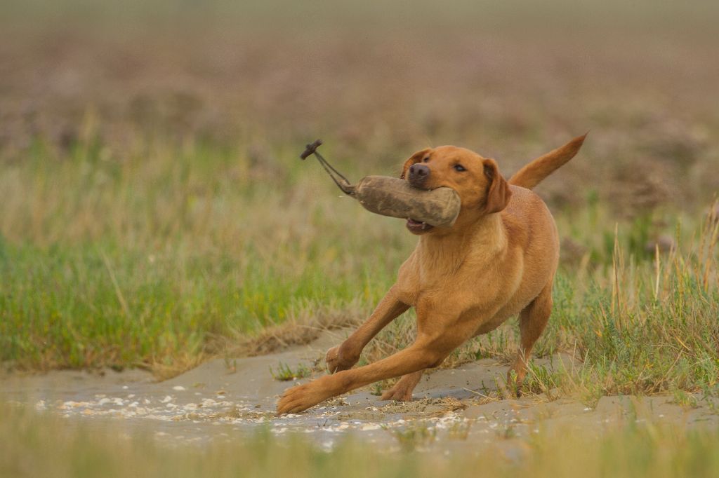
[[[383,299],[377,304],[377,308],[370,318],[360,325],[342,345],[332,347],[327,351],[326,363],[330,373],[348,370],[357,363],[359,355],[365,346],[375,337],[387,324],[409,309],[407,304],[397,299],[396,286],[392,286]]]

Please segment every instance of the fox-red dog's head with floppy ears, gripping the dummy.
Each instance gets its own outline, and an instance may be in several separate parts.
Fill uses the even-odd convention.
[[[452,228],[462,227],[482,215],[500,212],[507,207],[512,195],[494,159],[456,146],[417,151],[405,161],[400,178],[420,189],[454,189],[462,200],[462,209]],[[411,218],[407,220],[407,228],[413,234],[435,230]]]

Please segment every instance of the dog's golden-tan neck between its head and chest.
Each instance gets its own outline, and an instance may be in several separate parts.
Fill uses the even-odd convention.
[[[506,249],[507,231],[501,213],[483,215],[451,233],[421,235],[417,245],[423,275],[431,276],[451,275],[464,263],[482,267],[495,262]]]

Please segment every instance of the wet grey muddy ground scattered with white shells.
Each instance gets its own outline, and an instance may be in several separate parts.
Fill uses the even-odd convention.
[[[590,434],[627,421],[719,426],[716,407],[679,406],[669,396],[604,397],[594,408],[576,399],[546,395],[488,398],[485,395],[496,395],[495,378],[506,372],[505,365],[490,359],[427,374],[411,403],[381,401],[372,395],[373,388],[364,388],[305,413],[276,417],[275,401],[293,383],[275,380],[270,368],[277,370],[280,363],[314,367],[344,335],[325,332],[311,345],[272,355],[211,360],[163,382],[141,370],[5,373],[0,399],[82,423],[122,423],[128,434],[150,433],[168,444],[233,440],[264,427],[275,435],[311,436],[325,449],[354,434],[387,449],[476,451],[483,444],[501,442],[508,454],[516,454],[527,436],[554,426],[577,427]],[[561,357],[551,362],[561,362]]]

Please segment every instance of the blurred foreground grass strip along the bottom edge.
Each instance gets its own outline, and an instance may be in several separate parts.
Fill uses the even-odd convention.
[[[390,433],[389,431],[387,432]],[[122,422],[70,423],[50,414],[0,406],[0,475],[5,477],[712,477],[719,473],[719,432],[633,420],[603,434],[558,427],[523,439],[498,432],[493,444],[446,456],[418,452],[434,435],[397,437],[403,451],[383,452],[352,437],[321,451],[301,436],[269,432],[212,446],[166,444]],[[464,431],[449,431],[462,440]],[[432,438],[429,438],[432,437]],[[444,435],[441,439],[444,439]],[[439,441],[439,438],[437,439]]]

